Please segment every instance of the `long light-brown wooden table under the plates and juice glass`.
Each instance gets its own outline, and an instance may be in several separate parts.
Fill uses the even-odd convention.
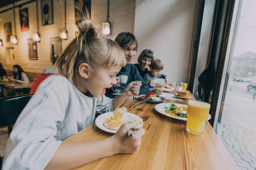
[[[189,95],[192,96],[191,93]],[[192,97],[191,99],[194,99]],[[116,154],[88,163],[76,170],[236,170],[238,167],[207,121],[202,135],[186,131],[186,121],[172,119],[155,111],[155,104],[142,103],[135,108],[126,105],[129,112],[143,119],[146,133],[139,151],[133,154]],[[187,104],[187,101],[165,102]],[[113,134],[102,131],[95,124],[76,133],[66,141],[102,140]]]

